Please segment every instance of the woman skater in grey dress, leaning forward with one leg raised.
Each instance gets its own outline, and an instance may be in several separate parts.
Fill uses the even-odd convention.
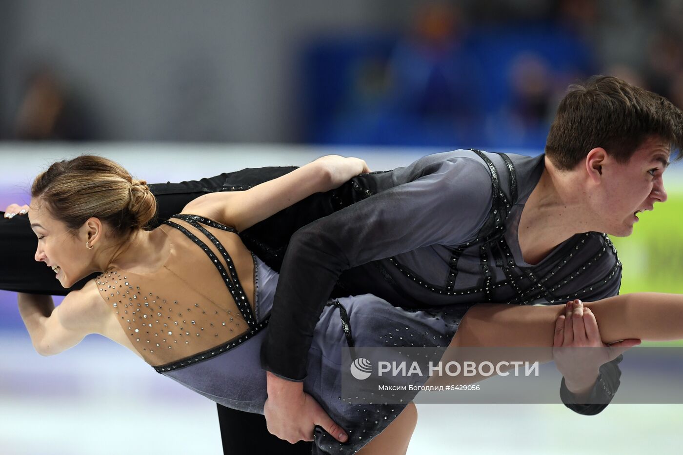
[[[367,170],[357,158],[327,156],[247,191],[198,197],[183,215],[150,231],[144,228],[156,206],[145,182],[95,156],[55,163],[31,189],[36,260],[50,266],[64,287],[104,273],[58,307],[50,297],[19,294],[33,346],[54,355],[100,333],[214,401],[262,412],[266,375],[258,353],[277,273],[253,256],[238,233]],[[400,328],[406,344],[415,346],[553,346],[569,322],[561,314],[596,317],[602,342],[673,340],[683,338],[683,302],[677,297],[632,294],[585,307],[462,305],[438,316],[408,312],[369,294],[330,302],[316,326],[305,381],[306,391],[332,416],[321,415],[320,428],[311,433],[313,452],[405,453],[415,426],[413,404],[352,406],[338,399],[335,362],[350,343],[376,346],[377,333]],[[594,334],[572,336],[591,340]],[[342,428],[349,437],[344,444],[330,435]]]

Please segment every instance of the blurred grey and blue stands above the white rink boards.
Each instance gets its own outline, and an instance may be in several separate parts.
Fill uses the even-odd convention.
[[[683,104],[678,0],[0,4],[0,137],[542,149],[568,84]]]

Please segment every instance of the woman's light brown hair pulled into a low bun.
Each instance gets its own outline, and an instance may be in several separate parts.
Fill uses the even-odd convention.
[[[156,199],[145,180],[101,156],[57,161],[33,180],[31,197],[40,197],[51,215],[74,231],[91,217],[107,223],[120,238],[147,228],[156,217]]]

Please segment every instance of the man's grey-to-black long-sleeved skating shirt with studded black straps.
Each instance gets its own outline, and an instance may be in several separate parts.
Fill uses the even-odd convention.
[[[372,293],[408,308],[616,295],[621,264],[605,234],[576,234],[538,264],[524,262],[518,223],[543,169],[544,155],[455,150],[354,178],[358,202],[290,240],[262,366],[292,380],[305,377],[313,329],[337,281],[349,294]],[[600,368],[590,402],[609,403],[621,360]],[[572,402],[564,381],[560,395],[583,414],[607,406]]]

